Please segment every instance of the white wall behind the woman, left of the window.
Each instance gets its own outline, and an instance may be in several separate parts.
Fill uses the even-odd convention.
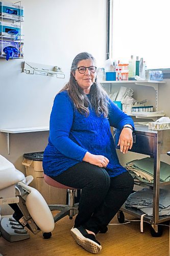
[[[10,1],[12,2],[12,1]],[[106,0],[23,0],[24,59],[0,59],[0,129],[48,125],[53,99],[69,78],[72,59],[90,52],[98,66],[106,59]],[[61,66],[65,79],[21,73],[30,61]],[[48,132],[0,133],[0,154],[18,169],[23,153],[43,151]]]

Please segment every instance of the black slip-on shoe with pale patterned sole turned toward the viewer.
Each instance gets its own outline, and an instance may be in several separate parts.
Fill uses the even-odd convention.
[[[85,250],[91,253],[98,253],[102,250],[101,244],[95,239],[94,234],[87,233],[86,229],[82,226],[72,227],[71,235],[76,242],[81,245]]]

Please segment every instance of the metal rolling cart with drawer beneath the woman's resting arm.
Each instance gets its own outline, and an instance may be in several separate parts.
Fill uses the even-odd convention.
[[[115,145],[117,145],[119,134],[120,132],[116,130],[114,134]],[[153,229],[151,231],[152,235],[152,232],[155,231],[155,236],[161,236],[162,226],[158,226],[157,224],[169,221],[170,216],[159,216],[159,188],[160,185],[169,185],[170,182],[160,182],[160,155],[166,154],[168,151],[170,151],[170,130],[153,131],[149,130],[147,125],[135,125],[135,131],[133,132],[133,146],[130,151],[149,155],[154,159],[154,184],[136,181],[135,184],[140,185],[141,187],[153,187],[153,217],[144,216],[143,220],[151,223]],[[120,210],[135,217],[141,217],[138,212],[133,209],[126,208],[125,205],[123,205]]]

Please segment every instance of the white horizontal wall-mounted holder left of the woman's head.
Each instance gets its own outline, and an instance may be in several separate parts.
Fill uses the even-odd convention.
[[[45,75],[45,76],[55,76],[57,78],[65,78],[64,73],[60,67],[52,67],[47,65],[42,65],[32,62],[23,62],[22,72],[30,75]]]

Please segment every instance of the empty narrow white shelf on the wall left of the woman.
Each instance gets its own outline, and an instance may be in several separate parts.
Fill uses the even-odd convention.
[[[49,126],[40,126],[40,127],[1,129],[0,132],[6,133],[8,155],[9,155],[10,154],[10,142],[9,142],[10,133],[32,133],[32,132],[44,132],[44,131],[49,131],[49,130],[50,130]]]

